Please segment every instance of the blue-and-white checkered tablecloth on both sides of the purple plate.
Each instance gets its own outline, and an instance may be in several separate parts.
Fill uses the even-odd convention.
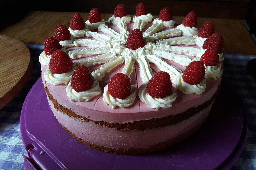
[[[33,60],[33,71],[19,94],[0,110],[0,170],[24,169],[22,154],[27,155],[20,131],[21,108],[27,93],[41,77],[38,61],[43,45],[27,45]],[[224,54],[224,76],[233,84],[243,100],[248,115],[248,134],[245,147],[232,170],[256,169],[256,79],[248,75],[245,65],[256,56]]]

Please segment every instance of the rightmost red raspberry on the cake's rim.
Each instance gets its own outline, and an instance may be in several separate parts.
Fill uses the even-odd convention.
[[[203,49],[213,49],[218,53],[221,52],[223,47],[223,36],[219,32],[213,33],[208,39],[203,43]]]

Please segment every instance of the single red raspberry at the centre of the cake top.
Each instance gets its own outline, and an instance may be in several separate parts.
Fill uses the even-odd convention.
[[[136,50],[140,47],[143,47],[144,45],[145,45],[145,41],[143,40],[141,30],[134,29],[133,31],[131,31],[126,41],[126,47]]]

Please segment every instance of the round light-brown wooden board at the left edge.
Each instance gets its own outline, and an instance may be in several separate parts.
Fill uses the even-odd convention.
[[[27,83],[31,71],[27,46],[15,38],[0,35],[0,109]]]

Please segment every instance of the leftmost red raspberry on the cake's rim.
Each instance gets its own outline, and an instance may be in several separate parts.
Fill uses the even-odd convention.
[[[43,42],[43,50],[45,54],[50,56],[54,51],[60,49],[62,46],[59,41],[53,37],[47,37]]]

